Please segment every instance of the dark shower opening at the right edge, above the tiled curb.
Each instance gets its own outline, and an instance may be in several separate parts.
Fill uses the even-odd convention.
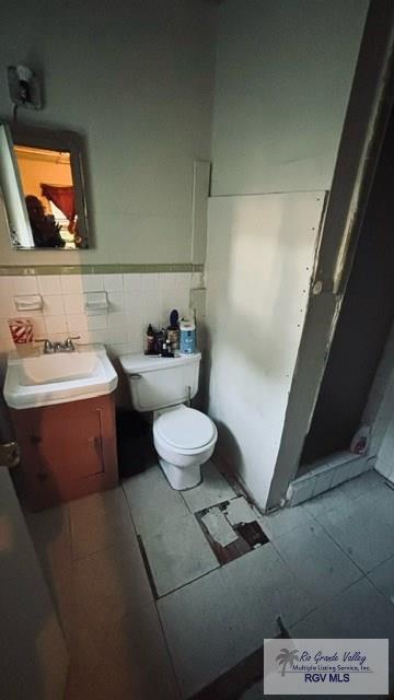
[[[348,450],[394,318],[394,118],[389,122],[301,466]]]

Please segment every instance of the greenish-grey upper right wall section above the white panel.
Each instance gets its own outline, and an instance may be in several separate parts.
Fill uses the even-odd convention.
[[[329,189],[368,0],[227,0],[212,195]]]

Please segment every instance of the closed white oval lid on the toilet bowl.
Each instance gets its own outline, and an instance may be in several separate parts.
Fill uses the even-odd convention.
[[[163,413],[158,418],[155,429],[165,442],[179,450],[204,447],[215,436],[211,419],[194,408]]]

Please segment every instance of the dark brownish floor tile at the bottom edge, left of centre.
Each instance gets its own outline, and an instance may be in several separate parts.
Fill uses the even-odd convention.
[[[81,631],[65,700],[177,700],[178,688],[154,604],[115,620],[92,645]]]

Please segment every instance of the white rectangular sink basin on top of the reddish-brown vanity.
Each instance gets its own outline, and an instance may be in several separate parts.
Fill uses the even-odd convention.
[[[35,408],[111,394],[117,374],[104,346],[80,346],[73,352],[8,358],[4,398],[11,408]]]

